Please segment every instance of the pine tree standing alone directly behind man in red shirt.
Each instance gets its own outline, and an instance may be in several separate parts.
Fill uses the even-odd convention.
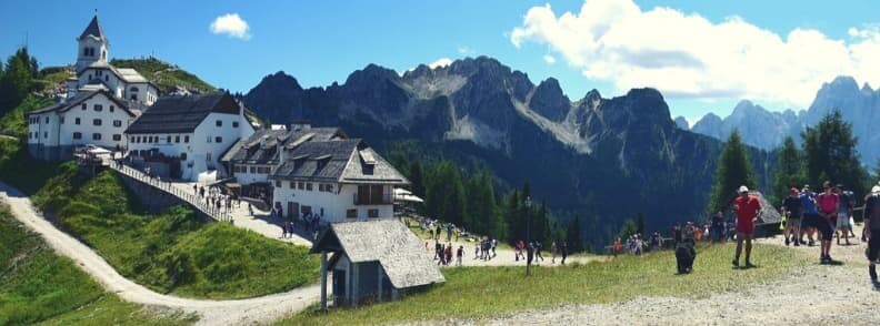
[[[746,145],[742,144],[739,131],[734,130],[718,157],[718,170],[716,170],[714,185],[709,200],[709,212],[727,208],[740,185],[756,189],[757,181],[749,162]]]

